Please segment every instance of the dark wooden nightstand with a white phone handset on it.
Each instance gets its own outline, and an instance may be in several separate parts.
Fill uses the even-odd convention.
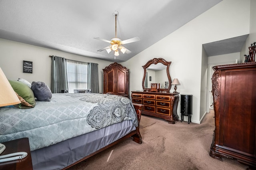
[[[2,144],[6,146],[6,149],[0,155],[14,152],[27,152],[28,155],[23,159],[0,163],[0,170],[33,170],[28,138],[2,142]]]

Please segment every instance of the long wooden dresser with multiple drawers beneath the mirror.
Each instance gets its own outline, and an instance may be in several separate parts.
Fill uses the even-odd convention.
[[[144,105],[142,114],[159,117],[174,124],[179,120],[177,115],[178,94],[132,91],[132,103]]]

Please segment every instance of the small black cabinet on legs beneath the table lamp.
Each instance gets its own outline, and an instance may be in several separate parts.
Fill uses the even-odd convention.
[[[192,116],[192,103],[193,95],[180,95],[180,113],[181,121],[184,120],[184,116],[188,116],[188,124],[191,122]]]

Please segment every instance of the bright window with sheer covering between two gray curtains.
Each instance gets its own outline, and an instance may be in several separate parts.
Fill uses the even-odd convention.
[[[88,70],[87,63],[73,60],[66,60],[68,92],[74,93],[74,89],[87,89],[88,87]]]

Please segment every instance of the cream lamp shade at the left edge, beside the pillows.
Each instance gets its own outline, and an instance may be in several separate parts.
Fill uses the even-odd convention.
[[[16,105],[19,103],[20,99],[12,89],[12,86],[0,67],[0,107]]]

